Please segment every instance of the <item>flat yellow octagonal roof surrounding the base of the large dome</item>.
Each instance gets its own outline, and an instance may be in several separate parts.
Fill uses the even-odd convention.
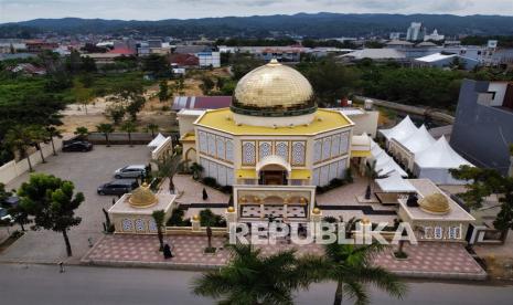
[[[233,135],[316,135],[334,130],[341,127],[352,126],[352,123],[344,114],[338,111],[318,109],[314,119],[309,125],[298,125],[293,127],[264,127],[237,125],[229,108],[207,111],[195,123],[216,130],[222,130]]]

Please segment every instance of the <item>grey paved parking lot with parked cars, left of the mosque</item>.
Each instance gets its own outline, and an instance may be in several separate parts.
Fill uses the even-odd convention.
[[[76,191],[82,191],[85,201],[77,209],[82,223],[70,232],[73,257],[66,259],[64,240],[61,233],[53,231],[30,231],[0,253],[2,262],[41,262],[54,263],[60,261],[78,262],[89,250],[88,239],[96,242],[101,236],[105,215],[101,208],[111,206],[113,196],[98,196],[99,185],[113,180],[117,168],[130,164],[146,165],[150,160],[150,151],[146,146],[95,146],[90,152],[60,152],[56,157],[47,158],[46,164],[35,167],[36,172],[55,175],[75,183]],[[7,189],[18,188],[29,179],[24,173],[11,181]],[[11,230],[19,229],[18,225]],[[4,230],[4,229],[2,229]]]

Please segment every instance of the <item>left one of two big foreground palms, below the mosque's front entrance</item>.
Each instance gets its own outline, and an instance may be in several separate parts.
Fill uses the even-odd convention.
[[[217,304],[293,304],[292,292],[311,283],[311,263],[293,250],[263,256],[248,244],[228,246],[229,263],[195,278],[194,294],[222,298]]]

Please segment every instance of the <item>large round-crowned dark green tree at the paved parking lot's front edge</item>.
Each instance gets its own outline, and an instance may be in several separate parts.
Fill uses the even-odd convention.
[[[31,175],[29,182],[18,190],[20,204],[34,215],[34,230],[41,228],[63,234],[67,256],[72,256],[72,246],[67,232],[82,221],[75,217],[75,210],[84,201],[82,192],[74,193],[73,182],[52,175]]]

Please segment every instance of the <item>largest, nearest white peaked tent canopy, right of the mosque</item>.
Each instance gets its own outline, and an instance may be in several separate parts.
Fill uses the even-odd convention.
[[[458,168],[462,165],[472,166],[463,157],[458,155],[441,136],[429,148],[415,155],[415,162],[423,168]]]

